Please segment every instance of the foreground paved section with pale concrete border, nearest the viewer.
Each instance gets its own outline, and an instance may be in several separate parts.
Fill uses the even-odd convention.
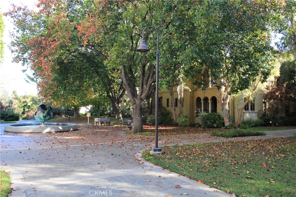
[[[5,167],[4,167],[5,169]],[[6,168],[6,170],[12,170]],[[16,183],[15,196],[231,196],[223,191],[197,183],[158,166],[140,169],[110,170],[22,182],[20,173],[11,171]],[[19,177],[17,177],[19,176]],[[180,185],[181,188],[175,188]]]

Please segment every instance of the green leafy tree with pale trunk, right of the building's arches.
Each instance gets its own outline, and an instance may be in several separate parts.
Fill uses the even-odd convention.
[[[271,30],[279,30],[282,7],[280,1],[202,1],[195,10],[197,57],[185,73],[194,84],[204,84],[206,77],[216,82],[225,125],[231,94],[257,76],[265,81],[272,69]]]

